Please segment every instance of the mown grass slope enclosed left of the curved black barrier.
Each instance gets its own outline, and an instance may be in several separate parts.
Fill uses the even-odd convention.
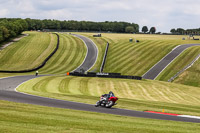
[[[54,50],[57,37],[43,32],[25,32],[29,36],[0,51],[0,70],[26,70],[39,66]]]

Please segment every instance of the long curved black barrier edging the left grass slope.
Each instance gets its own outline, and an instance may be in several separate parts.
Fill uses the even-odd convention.
[[[27,69],[27,70],[19,70],[19,71],[7,71],[7,70],[0,70],[0,72],[2,73],[26,73],[26,72],[33,72],[33,71],[36,71],[42,67],[44,67],[44,65],[47,63],[47,61],[56,53],[56,51],[58,50],[59,48],[59,44],[60,44],[60,38],[59,38],[59,35],[57,33],[54,33],[57,35],[57,45],[56,45],[56,48],[54,49],[54,51],[42,62],[41,65],[39,65],[38,67],[36,68],[33,68],[33,69]]]

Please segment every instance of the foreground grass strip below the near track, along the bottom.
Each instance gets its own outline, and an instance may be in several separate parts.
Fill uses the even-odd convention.
[[[200,124],[125,117],[0,101],[0,131],[9,133],[198,133]]]

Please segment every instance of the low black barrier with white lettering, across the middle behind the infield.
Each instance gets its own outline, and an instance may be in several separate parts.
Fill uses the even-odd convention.
[[[80,76],[80,77],[103,77],[103,78],[123,78],[123,79],[136,79],[142,80],[140,76],[127,76],[121,75],[120,73],[94,73],[88,72],[87,74],[79,73],[79,72],[71,72],[69,73],[71,76]]]

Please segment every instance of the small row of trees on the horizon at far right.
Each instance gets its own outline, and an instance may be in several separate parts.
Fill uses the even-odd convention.
[[[198,29],[183,29],[183,28],[173,28],[170,30],[171,34],[174,35],[200,35],[200,28]]]

